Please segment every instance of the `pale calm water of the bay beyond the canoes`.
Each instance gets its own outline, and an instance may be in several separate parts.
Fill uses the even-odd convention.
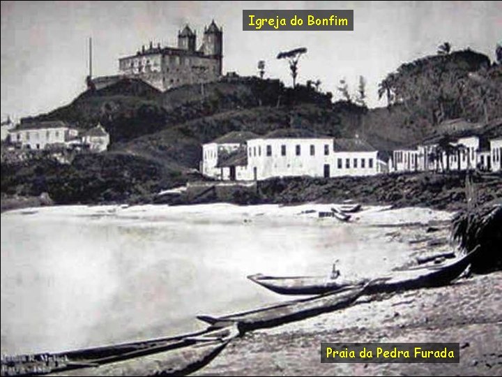
[[[406,254],[406,245],[383,236],[388,230],[295,216],[305,208],[79,206],[2,214],[1,351],[198,330],[197,314],[288,298],[248,274],[328,274],[338,258],[345,276],[367,276],[375,260],[390,269],[390,260],[395,265]]]

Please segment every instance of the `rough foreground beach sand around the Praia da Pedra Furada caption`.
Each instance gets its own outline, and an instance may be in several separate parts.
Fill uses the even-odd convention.
[[[502,273],[245,334],[196,376],[502,375]],[[321,342],[459,343],[459,364],[321,364]]]

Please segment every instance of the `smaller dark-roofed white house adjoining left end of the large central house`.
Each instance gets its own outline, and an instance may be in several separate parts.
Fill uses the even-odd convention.
[[[212,142],[202,145],[202,161],[200,172],[207,177],[223,179],[222,163],[229,158],[229,154],[237,151],[241,145],[251,138],[257,138],[257,134],[248,131],[232,131]],[[229,174],[229,173],[228,173]]]

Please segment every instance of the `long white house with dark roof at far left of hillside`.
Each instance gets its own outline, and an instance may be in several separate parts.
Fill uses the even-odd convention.
[[[77,128],[63,121],[34,121],[18,124],[9,131],[10,142],[27,149],[45,149],[47,145],[66,145],[75,140]]]

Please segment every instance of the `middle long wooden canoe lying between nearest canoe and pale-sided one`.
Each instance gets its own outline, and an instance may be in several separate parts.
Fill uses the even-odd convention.
[[[282,302],[229,316],[217,318],[197,316],[197,318],[211,324],[237,323],[238,330],[243,334],[251,330],[275,327],[345,308],[355,302],[360,295],[363,295],[365,289],[367,289],[367,285],[339,293],[328,293],[302,300]]]

